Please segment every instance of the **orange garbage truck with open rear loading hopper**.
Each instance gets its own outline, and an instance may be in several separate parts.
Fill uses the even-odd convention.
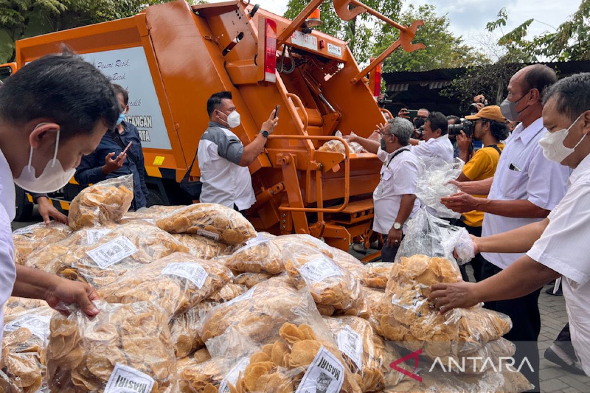
[[[318,148],[329,140],[347,146],[337,130],[368,137],[385,121],[367,75],[395,49],[422,48],[411,41],[423,22],[404,27],[357,0],[333,0],[345,21],[367,12],[399,29],[399,39],[361,69],[346,42],[313,29],[322,1],[293,21],[250,0],[153,5],[130,18],[17,41],[15,64],[4,69],[18,72],[65,44],[127,88],[126,121],[142,138],[152,204],[186,202],[179,182],[207,128],[212,93],[231,91],[242,119],[233,131],[244,144],[280,104],[278,126],[250,166],[257,202],[247,216],[258,230],[309,233],[348,250],[371,236],[382,163],[371,153]],[[199,179],[196,164],[191,178]],[[72,180],[54,204],[67,209],[80,187]]]

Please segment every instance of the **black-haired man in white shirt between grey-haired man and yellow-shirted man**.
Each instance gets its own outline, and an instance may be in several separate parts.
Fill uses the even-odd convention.
[[[410,139],[412,153],[421,157],[438,157],[447,163],[453,162],[453,143],[447,134],[448,120],[440,112],[432,112],[424,123],[422,140]]]

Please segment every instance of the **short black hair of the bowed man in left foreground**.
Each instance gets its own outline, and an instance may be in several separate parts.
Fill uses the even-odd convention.
[[[96,67],[64,50],[31,61],[0,89],[0,118],[22,125],[47,117],[60,138],[90,134],[99,120],[113,128],[119,118],[113,85]]]

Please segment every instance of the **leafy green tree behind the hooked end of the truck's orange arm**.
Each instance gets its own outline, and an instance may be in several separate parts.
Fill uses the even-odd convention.
[[[396,50],[383,62],[383,72],[427,71],[489,62],[483,53],[464,44],[461,37],[455,37],[449,31],[449,19],[446,15],[438,16],[434,5],[421,5],[418,8],[409,5],[407,11],[399,17],[399,22],[407,26],[417,19],[424,19],[424,25],[418,28],[412,42],[421,42],[426,48],[414,52]],[[381,53],[398,38],[397,29],[389,26],[384,28],[383,34],[375,37],[373,55]]]

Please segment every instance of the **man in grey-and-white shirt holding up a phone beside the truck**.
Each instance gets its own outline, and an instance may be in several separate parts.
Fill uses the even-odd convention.
[[[248,165],[264,150],[278,118],[274,110],[262,124],[260,133],[244,146],[230,128],[240,127],[240,114],[235,110],[230,91],[220,91],[207,100],[209,127],[197,150],[201,183],[199,200],[218,203],[244,212],[256,202]]]

